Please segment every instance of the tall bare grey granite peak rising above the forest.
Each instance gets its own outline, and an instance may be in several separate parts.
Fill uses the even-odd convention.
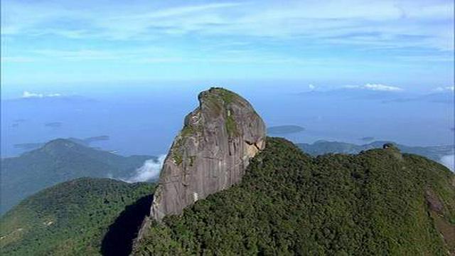
[[[157,221],[239,182],[264,149],[264,122],[247,100],[223,88],[201,92],[198,100],[164,161],[151,206]]]

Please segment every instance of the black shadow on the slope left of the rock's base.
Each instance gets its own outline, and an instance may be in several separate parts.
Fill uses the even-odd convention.
[[[141,228],[142,221],[149,215],[153,195],[144,196],[127,206],[112,225],[109,226],[102,240],[102,255],[129,255],[133,240]]]

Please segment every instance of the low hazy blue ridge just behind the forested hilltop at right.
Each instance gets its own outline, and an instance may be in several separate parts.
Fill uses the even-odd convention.
[[[371,142],[369,144],[356,145],[346,142],[328,142],[320,140],[318,142],[314,142],[313,144],[298,143],[296,145],[299,146],[299,148],[301,148],[305,153],[310,154],[311,156],[319,156],[329,153],[358,154],[360,151],[365,151],[368,149],[380,149],[382,148],[382,145],[386,143],[395,144],[393,142],[378,141]],[[442,156],[454,154],[454,145],[405,146],[402,144],[396,144],[396,146],[403,153],[418,154],[434,161],[439,161]]]

